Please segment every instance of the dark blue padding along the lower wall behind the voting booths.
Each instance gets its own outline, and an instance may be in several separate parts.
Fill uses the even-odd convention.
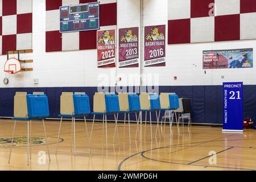
[[[133,87],[135,91],[135,87]],[[51,118],[58,118],[60,114],[60,95],[62,92],[85,92],[90,98],[90,108],[93,110],[93,95],[97,87],[56,87],[56,88],[0,88],[0,116],[13,117],[15,92],[46,93],[49,101]],[[110,92],[110,90],[109,90]],[[222,123],[222,85],[217,86],[159,86],[159,92],[175,92],[179,97],[191,98],[192,122],[197,123]],[[160,94],[159,93],[159,94]],[[152,112],[152,121],[156,120]],[[163,115],[163,112],[162,112]],[[119,114],[118,119],[123,119],[124,114]],[[143,121],[145,114],[143,112]],[[256,117],[256,85],[243,85],[243,117]],[[88,115],[92,119],[92,115]],[[96,118],[101,119],[97,116]],[[135,119],[134,114],[130,115]],[[149,119],[149,115],[147,115]],[[109,115],[108,119],[114,119]]]

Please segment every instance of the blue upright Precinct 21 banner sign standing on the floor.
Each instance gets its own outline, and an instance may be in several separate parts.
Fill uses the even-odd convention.
[[[223,83],[222,131],[243,131],[243,82]]]

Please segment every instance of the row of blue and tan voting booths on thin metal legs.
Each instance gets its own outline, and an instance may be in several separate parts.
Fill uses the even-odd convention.
[[[164,115],[160,121],[160,113],[164,111]],[[150,122],[150,133],[151,133],[151,141],[152,141],[152,118],[151,114],[155,113],[156,115],[156,133],[159,132],[159,124],[162,125],[164,121],[164,126],[166,125],[166,119],[170,121],[170,137],[171,137],[171,127],[174,121],[174,118],[179,114],[179,119],[177,119],[176,123],[179,126],[179,123],[182,121],[184,126],[184,119],[188,119],[188,126],[191,126],[191,101],[187,98],[178,98],[175,93],[161,93],[158,96],[155,93],[141,93],[140,95],[136,93],[99,93],[96,92],[93,96],[93,112],[90,109],[89,97],[85,93],[72,93],[72,92],[63,92],[60,97],[60,125],[59,131],[57,135],[57,143],[56,143],[56,151],[57,154],[59,138],[61,133],[61,123],[63,122],[63,118],[71,119],[71,128],[72,128],[72,144],[71,144],[71,152],[76,155],[76,118],[83,117],[85,122],[85,131],[86,137],[88,138],[89,143],[89,152],[90,152],[90,143],[93,135],[93,126],[94,121],[97,115],[102,117],[102,122],[105,124],[106,130],[106,148],[108,149],[108,128],[107,121],[108,115],[114,115],[115,119],[115,129],[114,129],[114,138],[118,137],[119,143],[119,134],[118,134],[118,114],[124,114],[123,121],[128,121],[129,126],[129,143],[131,144],[131,129],[130,129],[130,114],[134,114],[137,122],[137,130],[135,139],[137,139],[137,135],[139,133],[139,123],[142,123],[142,113],[145,113],[145,128],[147,125],[147,115],[149,115]],[[88,114],[93,115],[92,129],[90,131],[90,135],[88,133],[88,127],[86,124],[86,116]],[[13,148],[13,139],[15,133],[16,121],[23,120],[27,122],[27,164],[29,164],[29,160],[31,159],[31,120],[42,120],[44,133],[46,136],[46,146],[49,149],[47,143],[47,134],[46,127],[44,124],[44,119],[49,117],[49,106],[48,106],[48,98],[44,93],[33,93],[27,94],[26,92],[16,92],[14,97],[14,130],[11,141],[10,148],[10,156],[9,163],[11,158],[11,151]],[[104,126],[104,125],[103,125]],[[50,160],[50,156],[49,156]]]

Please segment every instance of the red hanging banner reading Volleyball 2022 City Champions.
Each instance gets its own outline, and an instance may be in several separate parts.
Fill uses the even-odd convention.
[[[115,67],[115,30],[97,32],[98,68]]]

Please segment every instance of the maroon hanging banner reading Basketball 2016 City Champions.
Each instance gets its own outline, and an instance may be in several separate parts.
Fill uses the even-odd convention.
[[[144,67],[166,66],[166,25],[145,27]]]

